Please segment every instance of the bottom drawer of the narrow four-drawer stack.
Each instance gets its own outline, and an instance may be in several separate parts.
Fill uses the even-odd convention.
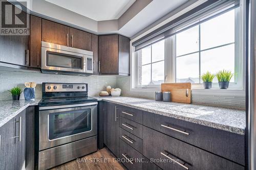
[[[143,167],[143,155],[121,139],[119,139],[119,158],[123,165],[129,170],[138,170]]]

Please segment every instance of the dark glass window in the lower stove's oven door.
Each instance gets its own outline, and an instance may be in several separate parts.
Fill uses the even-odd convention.
[[[49,114],[49,139],[92,130],[92,110],[83,109]]]

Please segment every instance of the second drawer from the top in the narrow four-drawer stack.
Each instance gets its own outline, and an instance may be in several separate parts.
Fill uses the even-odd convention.
[[[143,138],[143,125],[133,122],[127,118],[119,117],[119,127],[141,139]]]

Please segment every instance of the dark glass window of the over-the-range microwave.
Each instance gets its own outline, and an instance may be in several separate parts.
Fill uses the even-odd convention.
[[[63,53],[46,52],[46,64],[52,67],[82,69],[82,57]]]

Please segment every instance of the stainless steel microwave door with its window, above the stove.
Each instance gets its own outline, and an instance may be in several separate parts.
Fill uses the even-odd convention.
[[[41,69],[86,72],[86,55],[55,48],[41,48]]]

